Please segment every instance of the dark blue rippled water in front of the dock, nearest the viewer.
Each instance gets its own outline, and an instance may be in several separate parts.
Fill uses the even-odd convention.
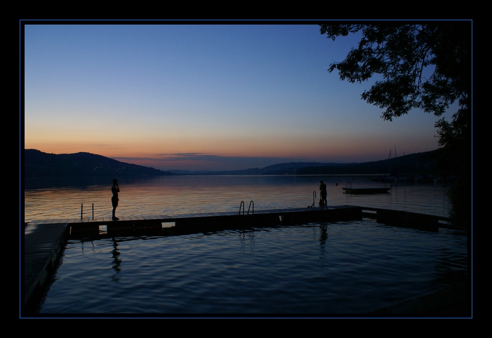
[[[466,233],[353,222],[69,240],[39,313],[366,313],[464,281]]]

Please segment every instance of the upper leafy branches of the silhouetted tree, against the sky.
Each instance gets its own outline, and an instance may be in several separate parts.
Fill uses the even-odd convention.
[[[362,93],[368,103],[386,109],[382,118],[419,108],[440,116],[456,100],[467,102],[470,81],[469,23],[431,25],[320,25],[321,34],[338,36],[362,31],[358,48],[334,62],[341,80],[376,81]]]

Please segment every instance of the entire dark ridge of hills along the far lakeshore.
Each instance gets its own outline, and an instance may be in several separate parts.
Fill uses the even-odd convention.
[[[243,170],[168,170],[138,166],[87,152],[48,154],[35,149],[24,150],[25,177],[95,177],[95,176],[163,176],[163,175],[326,175],[392,174],[430,175],[435,169],[438,150],[415,153],[364,163],[279,163],[264,168]]]

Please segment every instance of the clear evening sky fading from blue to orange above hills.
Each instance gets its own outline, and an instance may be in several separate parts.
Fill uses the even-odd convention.
[[[361,100],[380,78],[351,84],[327,71],[360,38],[332,41],[317,25],[26,25],[25,148],[162,170],[437,149],[438,117],[384,121]]]

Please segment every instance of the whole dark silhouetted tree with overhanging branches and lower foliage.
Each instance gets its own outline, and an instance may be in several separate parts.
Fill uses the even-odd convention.
[[[435,123],[442,146],[438,167],[444,176],[456,175],[456,187],[469,187],[471,178],[471,24],[470,22],[422,25],[320,25],[321,34],[335,40],[362,31],[357,48],[345,60],[334,62],[341,80],[362,83],[374,74],[382,76],[362,98],[385,111],[391,121],[413,108],[441,116],[458,101],[449,122]],[[457,188],[456,188],[457,189]],[[451,192],[456,210],[469,194]],[[461,199],[461,201],[459,201]],[[468,201],[471,198],[468,199]],[[466,201],[466,203],[468,203]],[[463,217],[463,212],[460,212]],[[458,215],[456,215],[458,216]]]

